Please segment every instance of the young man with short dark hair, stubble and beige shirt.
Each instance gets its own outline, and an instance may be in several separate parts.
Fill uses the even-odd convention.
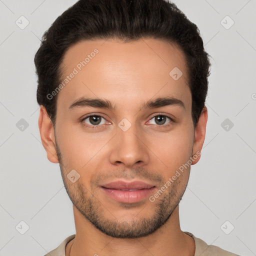
[[[165,0],[80,0],[35,55],[39,130],[76,234],[47,255],[236,255],[179,225],[205,137],[208,54]]]

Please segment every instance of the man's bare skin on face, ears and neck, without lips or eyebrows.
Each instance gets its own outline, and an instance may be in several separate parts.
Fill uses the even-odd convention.
[[[55,129],[40,106],[42,144],[49,161],[60,163],[73,202],[76,236],[66,255],[194,255],[194,240],[181,231],[178,213],[190,166],[153,202],[148,197],[139,203],[118,202],[99,187],[122,179],[151,182],[159,189],[201,151],[207,108],[194,128],[184,54],[178,46],[153,38],[83,40],[66,51],[63,78],[94,48],[99,50],[95,57],[57,94]],[[183,73],[178,80],[169,75],[175,66]],[[107,99],[115,109],[69,109],[82,96]],[[181,100],[184,107],[142,108],[147,100],[165,96]],[[98,128],[92,128],[95,121],[89,118],[81,121],[88,114],[103,116]],[[159,115],[174,121],[166,117],[161,124]],[[123,118],[131,124],[126,131],[118,126]],[[80,175],[74,183],[66,176],[72,169]]]

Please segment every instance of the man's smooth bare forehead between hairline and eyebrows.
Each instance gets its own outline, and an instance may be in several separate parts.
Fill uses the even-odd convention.
[[[191,104],[184,53],[163,40],[82,40],[68,48],[60,70],[57,104],[62,107],[80,97],[129,106],[163,95]]]

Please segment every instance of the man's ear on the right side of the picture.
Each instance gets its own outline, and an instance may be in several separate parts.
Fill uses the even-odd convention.
[[[202,150],[202,145],[204,142],[205,132],[206,132],[207,118],[208,118],[207,107],[204,106],[194,129],[193,155],[196,154],[196,152],[201,152]],[[201,154],[197,153],[197,155],[198,157],[193,160],[192,164],[195,164],[199,161]]]

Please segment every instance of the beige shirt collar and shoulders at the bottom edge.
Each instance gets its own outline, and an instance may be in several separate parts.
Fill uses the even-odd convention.
[[[239,256],[238,254],[234,254],[232,252],[223,250],[215,245],[207,245],[207,243],[200,238],[195,237],[192,233],[184,232],[190,235],[195,242],[195,252],[194,256]],[[51,250],[44,256],[65,256],[65,246],[75,237],[75,234],[69,235],[64,241],[60,243],[60,245]]]

